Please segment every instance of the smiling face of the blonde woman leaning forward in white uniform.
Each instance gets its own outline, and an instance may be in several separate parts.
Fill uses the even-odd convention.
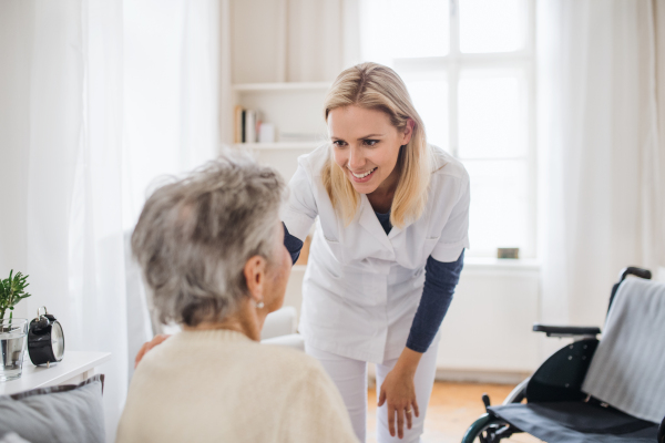
[[[335,163],[360,194],[371,194],[379,186],[389,190],[397,184],[399,148],[411,134],[411,125],[398,131],[382,111],[349,105],[328,113]]]

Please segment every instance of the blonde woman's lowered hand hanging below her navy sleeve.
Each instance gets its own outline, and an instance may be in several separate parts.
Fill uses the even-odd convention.
[[[416,400],[416,385],[413,377],[416,369],[422,354],[405,348],[402,354],[392,371],[388,372],[383,384],[381,384],[381,393],[379,395],[379,408],[388,402],[388,427],[390,435],[395,436],[395,416],[397,415],[397,436],[405,436],[405,421],[407,429],[411,429],[411,420],[413,414],[420,415],[418,410],[418,401]]]

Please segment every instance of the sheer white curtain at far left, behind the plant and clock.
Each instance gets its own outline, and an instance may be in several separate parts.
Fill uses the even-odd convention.
[[[0,148],[17,159],[17,181],[2,186],[16,216],[3,212],[13,222],[2,226],[0,271],[30,275],[33,296],[20,315],[47,306],[63,324],[68,351],[112,353],[101,368],[111,439],[127,384],[122,3],[6,1],[0,18],[0,64],[11,71],[0,83],[0,109],[12,115]]]

